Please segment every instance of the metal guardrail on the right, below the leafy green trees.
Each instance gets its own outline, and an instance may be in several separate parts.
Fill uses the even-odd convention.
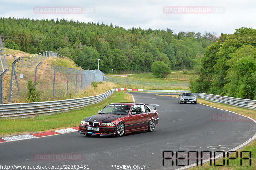
[[[235,97],[219,96],[206,93],[193,93],[199,98],[210,100],[213,102],[229,104],[233,106],[239,106],[244,108],[256,109],[256,100],[240,99]]]

